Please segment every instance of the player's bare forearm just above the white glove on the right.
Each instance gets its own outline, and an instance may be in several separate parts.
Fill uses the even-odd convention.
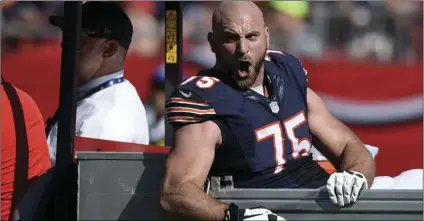
[[[354,170],[364,174],[368,182],[368,187],[371,187],[374,181],[374,159],[364,144],[357,139],[349,141],[344,148],[341,155],[340,169]]]

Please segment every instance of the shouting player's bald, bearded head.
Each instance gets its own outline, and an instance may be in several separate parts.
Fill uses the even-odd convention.
[[[259,7],[251,1],[225,1],[212,17],[208,41],[215,68],[227,73],[240,89],[260,85],[269,45],[269,29]]]

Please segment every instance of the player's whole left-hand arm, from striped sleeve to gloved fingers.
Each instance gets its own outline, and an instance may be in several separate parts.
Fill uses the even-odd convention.
[[[209,77],[191,78],[168,99],[167,121],[174,128],[174,144],[165,165],[162,208],[194,220],[284,220],[264,208],[240,209],[234,203],[220,203],[203,191],[215,149],[223,143],[213,121],[222,110],[215,111],[207,102],[211,94],[216,98],[217,82]]]

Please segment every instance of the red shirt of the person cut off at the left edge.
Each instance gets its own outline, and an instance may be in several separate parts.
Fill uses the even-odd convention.
[[[25,134],[15,134],[14,113],[4,83],[1,89],[1,220],[8,220],[15,189],[17,146],[19,148],[16,136],[22,137]],[[51,168],[44,122],[34,100],[22,90],[13,85],[11,87],[16,90],[22,105],[28,143],[28,180],[31,180]]]

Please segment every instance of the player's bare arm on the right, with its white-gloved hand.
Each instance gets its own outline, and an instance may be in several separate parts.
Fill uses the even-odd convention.
[[[327,181],[330,200],[338,206],[354,203],[361,190],[373,183],[374,159],[359,138],[332,116],[321,98],[309,88],[307,104],[314,146],[339,171],[331,174]]]

